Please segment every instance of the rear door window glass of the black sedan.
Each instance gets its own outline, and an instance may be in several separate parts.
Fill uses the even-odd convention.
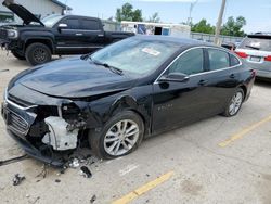
[[[210,71],[230,67],[229,53],[218,50],[208,49]]]

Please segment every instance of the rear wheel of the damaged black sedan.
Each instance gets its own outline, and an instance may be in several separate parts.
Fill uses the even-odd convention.
[[[237,113],[240,112],[242,107],[244,99],[245,99],[245,93],[242,88],[238,88],[236,92],[233,94],[233,97],[231,98],[230,102],[228,103],[223,115],[225,117],[232,117],[232,116],[237,115]]]

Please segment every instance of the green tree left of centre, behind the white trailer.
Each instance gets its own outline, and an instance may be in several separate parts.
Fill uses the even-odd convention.
[[[121,8],[117,9],[116,21],[132,21],[132,22],[142,22],[142,11],[137,9],[133,10],[132,4],[125,3]]]

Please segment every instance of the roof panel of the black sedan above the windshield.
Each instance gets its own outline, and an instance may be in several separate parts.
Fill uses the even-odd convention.
[[[140,39],[149,39],[149,40],[159,40],[159,41],[168,41],[168,42],[175,42],[180,46],[208,46],[208,47],[216,47],[209,42],[203,42],[199,40],[193,40],[188,38],[177,38],[177,37],[170,37],[170,36],[153,36],[153,35],[137,35],[134,38]]]

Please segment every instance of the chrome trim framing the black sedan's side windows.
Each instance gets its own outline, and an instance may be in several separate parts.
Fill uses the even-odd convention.
[[[208,47],[208,46],[199,46],[199,47],[193,47],[193,48],[190,48],[185,51],[183,51],[182,53],[180,53],[163,72],[162,74],[156,78],[156,80],[154,81],[154,84],[159,84],[159,78],[168,71],[168,68],[179,59],[181,58],[183,54],[185,54],[186,52],[191,51],[191,50],[194,50],[194,49],[216,49],[216,50],[220,50],[220,51],[223,51],[228,54],[232,54],[234,55],[237,60],[238,60],[238,64],[237,65],[234,65],[234,66],[230,66],[230,67],[225,67],[225,68],[220,68],[220,69],[216,69],[216,71],[207,71],[207,72],[203,72],[203,73],[198,73],[198,74],[193,74],[193,75],[189,75],[190,77],[193,77],[193,76],[199,76],[199,75],[206,75],[206,74],[210,74],[210,73],[217,73],[217,72],[220,72],[220,71],[225,71],[225,69],[231,69],[231,68],[236,68],[237,66],[241,66],[243,65],[242,61],[236,56],[236,54],[234,52],[230,52],[223,48],[216,48],[216,47]],[[230,60],[230,59],[229,59]]]

